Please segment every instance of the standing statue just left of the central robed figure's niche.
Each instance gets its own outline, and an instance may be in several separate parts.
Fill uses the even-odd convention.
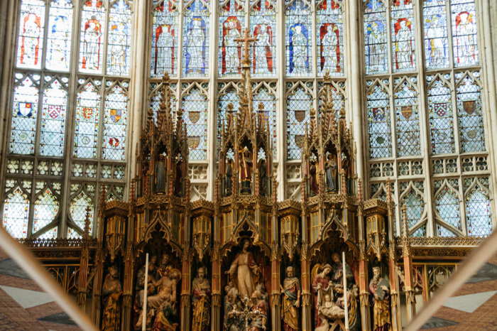
[[[193,318],[192,331],[207,331],[210,323],[211,285],[205,278],[205,268],[197,271],[197,278],[192,282]]]

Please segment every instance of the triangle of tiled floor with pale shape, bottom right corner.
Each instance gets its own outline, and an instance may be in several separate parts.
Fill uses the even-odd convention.
[[[423,330],[497,330],[497,254],[444,303]]]

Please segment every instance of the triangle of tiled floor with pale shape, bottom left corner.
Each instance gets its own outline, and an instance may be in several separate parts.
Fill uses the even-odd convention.
[[[0,330],[81,330],[0,250]]]

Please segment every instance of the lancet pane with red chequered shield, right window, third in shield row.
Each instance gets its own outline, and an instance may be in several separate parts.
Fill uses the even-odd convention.
[[[454,119],[452,93],[442,79],[428,76],[428,109],[430,112],[430,141],[432,154],[454,153]]]

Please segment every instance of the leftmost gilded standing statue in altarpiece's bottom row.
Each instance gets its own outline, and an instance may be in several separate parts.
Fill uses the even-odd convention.
[[[102,330],[121,330],[122,294],[123,289],[119,281],[119,270],[116,266],[111,266],[109,273],[105,277],[104,288],[102,288],[102,306],[104,307]]]

